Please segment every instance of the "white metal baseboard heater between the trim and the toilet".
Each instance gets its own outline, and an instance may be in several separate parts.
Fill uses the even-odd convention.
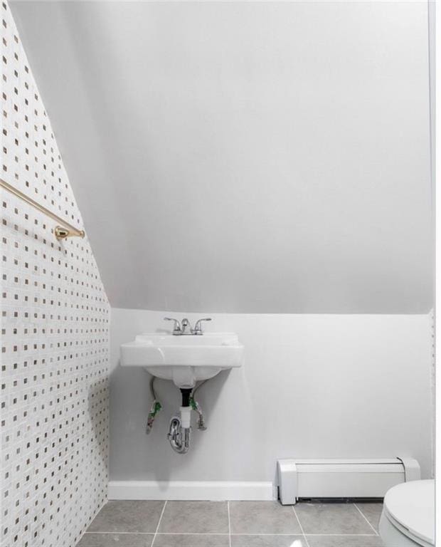
[[[300,498],[382,498],[395,484],[420,479],[413,458],[279,459],[277,472],[283,505]]]

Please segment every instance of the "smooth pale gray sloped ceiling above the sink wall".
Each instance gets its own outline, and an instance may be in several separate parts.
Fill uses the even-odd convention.
[[[425,2],[11,4],[112,306],[432,306]]]

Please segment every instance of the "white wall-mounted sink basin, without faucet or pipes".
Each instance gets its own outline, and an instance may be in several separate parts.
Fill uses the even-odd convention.
[[[234,333],[140,334],[121,345],[123,367],[143,367],[154,376],[173,380],[178,387],[194,387],[198,380],[208,380],[242,363],[243,344]]]

